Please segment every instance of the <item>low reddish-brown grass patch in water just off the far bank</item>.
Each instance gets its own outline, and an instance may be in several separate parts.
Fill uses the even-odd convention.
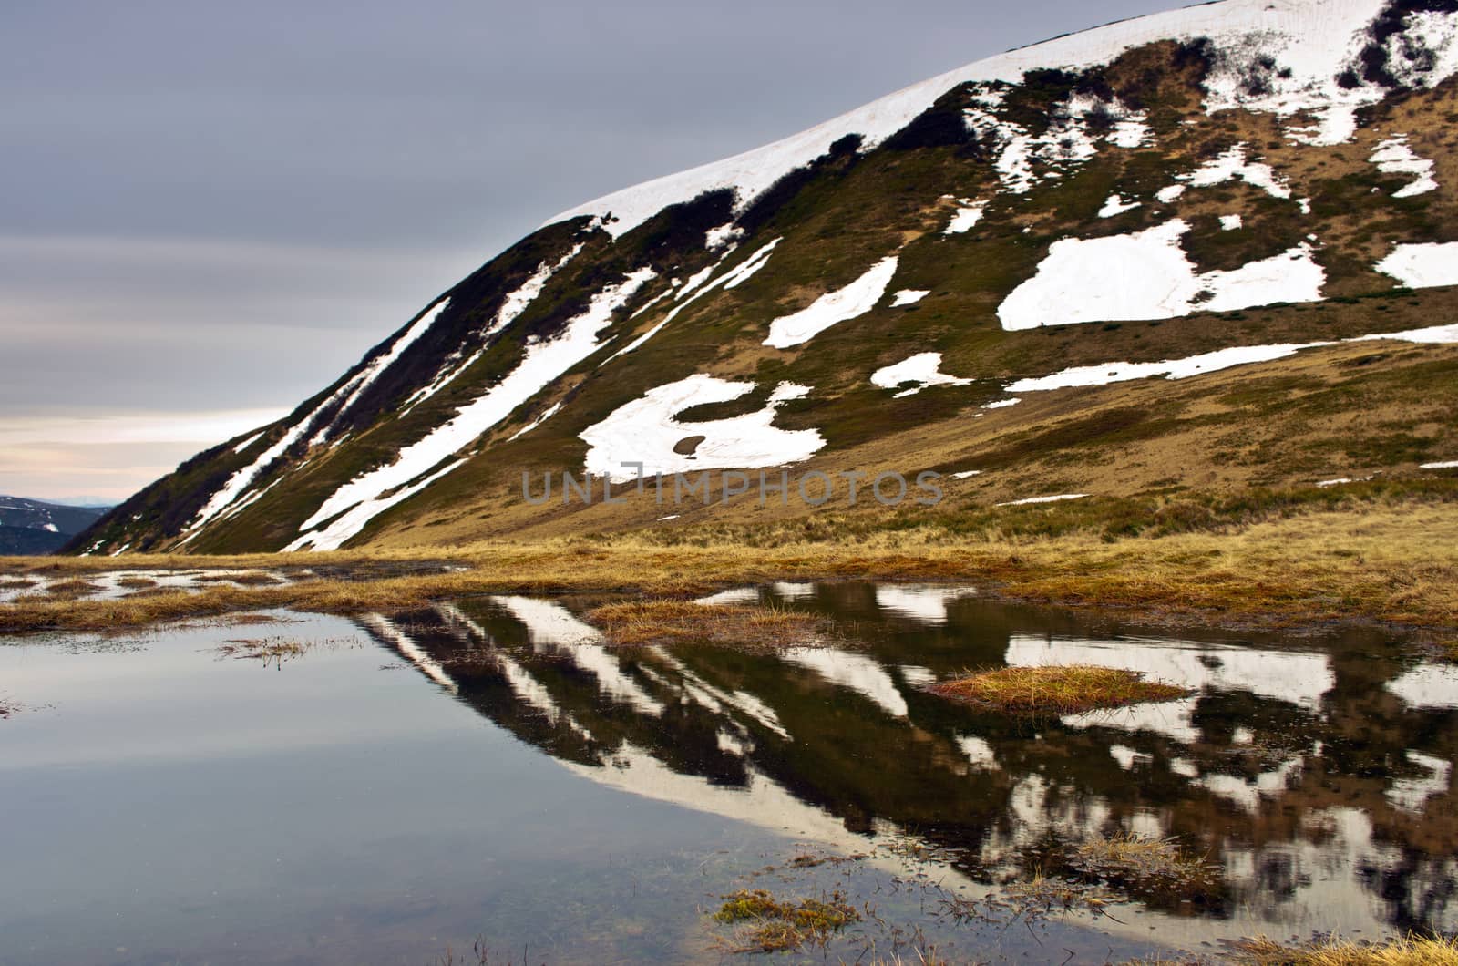
[[[824,644],[824,617],[779,607],[695,604],[646,600],[605,604],[588,611],[609,644],[717,644],[749,651],[803,648]]]

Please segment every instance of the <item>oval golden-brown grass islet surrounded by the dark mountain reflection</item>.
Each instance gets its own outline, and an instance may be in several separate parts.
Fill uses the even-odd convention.
[[[1146,681],[1139,671],[1089,664],[1003,667],[932,684],[935,695],[1005,714],[1077,714],[1172,700],[1190,689]]]

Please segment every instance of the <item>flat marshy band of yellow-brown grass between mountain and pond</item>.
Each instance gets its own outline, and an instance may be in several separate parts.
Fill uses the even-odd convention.
[[[811,517],[760,527],[596,534],[459,547],[236,557],[0,559],[0,632],[140,627],[267,607],[366,613],[500,592],[688,598],[805,579],[948,581],[1168,626],[1458,632],[1458,479],[1010,506],[955,517]],[[1184,508],[1184,509],[1181,509]],[[1198,512],[1196,512],[1198,511]],[[1158,527],[1150,528],[1150,524]],[[1137,525],[1136,525],[1137,524]],[[85,595],[118,571],[213,569],[277,582],[197,582]],[[125,573],[121,573],[125,576]],[[26,584],[34,581],[35,584]],[[50,594],[41,584],[69,588]]]

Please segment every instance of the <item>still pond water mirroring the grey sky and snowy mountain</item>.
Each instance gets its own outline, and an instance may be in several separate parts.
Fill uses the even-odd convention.
[[[617,652],[595,601],[525,597],[7,639],[0,963],[427,963],[478,935],[515,960],[719,962],[735,935],[704,913],[742,887],[873,903],[831,962],[917,928],[954,957],[1105,962],[1458,927],[1458,673],[1397,642],[1137,635],[967,588],[739,597],[841,641]],[[219,649],[274,638],[312,646]],[[1031,725],[923,690],[1047,662],[1198,693]],[[1108,916],[935,915],[1118,833],[1178,836],[1217,883],[1124,889]],[[860,858],[784,867],[806,852]]]

